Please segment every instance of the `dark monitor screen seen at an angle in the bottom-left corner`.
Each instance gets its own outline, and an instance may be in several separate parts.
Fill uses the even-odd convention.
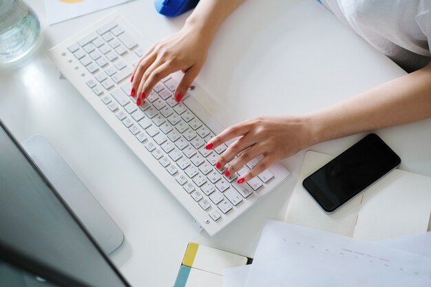
[[[58,286],[129,286],[1,121],[0,260],[2,279],[25,270]]]

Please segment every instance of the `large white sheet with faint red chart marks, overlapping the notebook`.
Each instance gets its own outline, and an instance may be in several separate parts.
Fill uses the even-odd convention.
[[[269,221],[246,287],[429,287],[431,258]]]

